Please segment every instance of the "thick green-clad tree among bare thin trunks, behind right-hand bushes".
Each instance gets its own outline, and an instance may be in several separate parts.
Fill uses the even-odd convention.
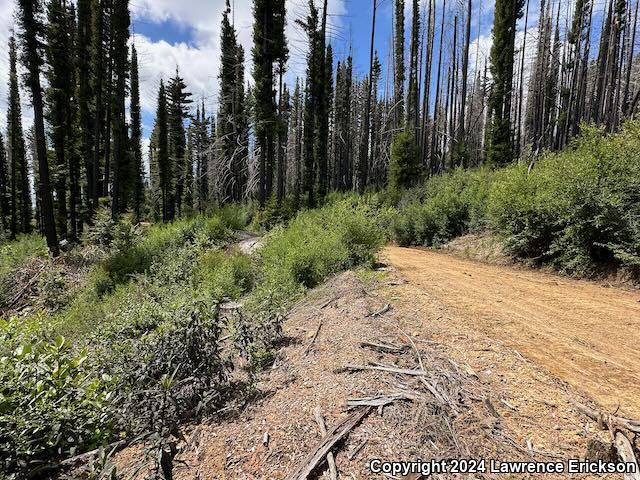
[[[522,16],[522,0],[496,0],[490,70],[493,78],[488,101],[488,161],[504,165],[513,160],[511,99],[516,22]]]

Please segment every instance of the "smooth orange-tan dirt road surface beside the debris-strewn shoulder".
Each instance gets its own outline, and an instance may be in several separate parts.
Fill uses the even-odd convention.
[[[436,300],[462,327],[516,349],[607,410],[640,417],[640,293],[421,249],[384,254],[418,308]]]

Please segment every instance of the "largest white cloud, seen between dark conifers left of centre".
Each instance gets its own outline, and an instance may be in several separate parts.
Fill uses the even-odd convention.
[[[232,0],[233,20],[238,40],[245,49],[246,78],[251,78],[251,46],[253,34],[252,0]],[[329,1],[329,31],[340,29],[340,15],[346,11],[345,0]],[[220,23],[225,9],[224,0],[139,0],[132,6],[135,21],[155,23],[172,21],[193,32],[190,44],[170,44],[165,40],[153,42],[136,35],[140,62],[142,108],[152,114],[155,110],[160,78],[169,78],[176,65],[194,99],[205,98],[207,109],[217,107],[218,73],[220,68]],[[292,83],[306,69],[306,37],[296,24],[307,14],[306,2],[287,0],[287,38],[290,60],[287,81]]]

